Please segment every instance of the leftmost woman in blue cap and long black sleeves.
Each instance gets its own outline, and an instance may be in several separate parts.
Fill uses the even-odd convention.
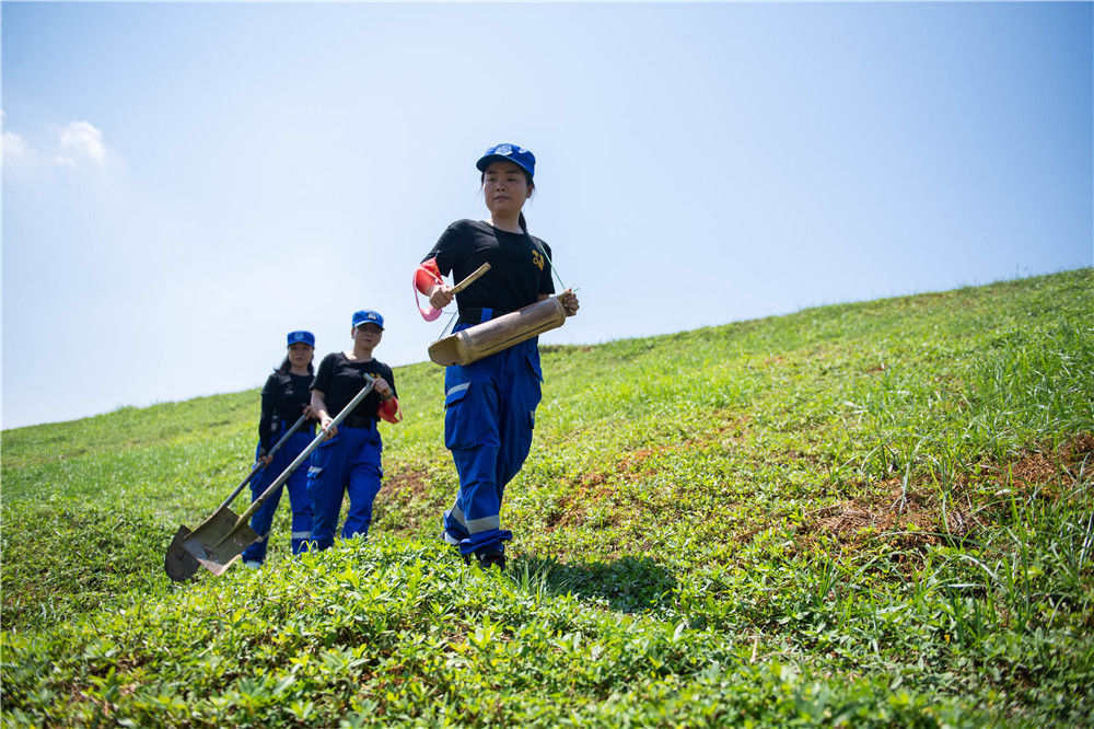
[[[312,442],[315,433],[315,424],[305,421],[296,432],[289,436],[289,440],[272,458],[268,455],[274,443],[292,428],[301,415],[306,415],[309,420],[315,419],[309,392],[315,337],[311,332],[290,332],[288,346],[289,352],[284,361],[274,370],[263,387],[255,459],[264,464],[264,468],[251,481],[252,500],[257,499],[266,487],[296,460],[296,456]],[[289,506],[292,508],[290,534],[292,553],[303,552],[305,543],[312,535],[312,501],[307,498],[307,473],[303,468],[296,468],[286,484],[278,488],[251,518],[251,529],[260,536],[257,542],[243,551],[243,564],[248,567],[260,567],[266,560],[270,524],[274,523],[274,512],[277,511],[284,486],[289,487]]]

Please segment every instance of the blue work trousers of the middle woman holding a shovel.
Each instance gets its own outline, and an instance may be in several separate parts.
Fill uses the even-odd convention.
[[[335,542],[335,528],[341,511],[342,496],[349,496],[349,513],[342,525],[342,539],[368,536],[372,522],[372,502],[380,493],[383,471],[380,456],[384,450],[373,421],[369,428],[338,426],[338,433],[315,449],[307,470],[307,495],[315,519],[312,542],[326,549]]]

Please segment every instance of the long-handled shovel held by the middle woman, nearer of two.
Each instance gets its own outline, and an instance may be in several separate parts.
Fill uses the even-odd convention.
[[[258,540],[258,534],[247,525],[247,520],[258,511],[263,504],[266,502],[266,499],[281,484],[288,481],[292,472],[307,460],[312,451],[319,447],[319,443],[327,437],[327,432],[331,428],[337,428],[338,424],[364,400],[365,395],[372,392],[373,379],[368,374],[364,375],[364,379],[368,381],[368,384],[362,387],[361,392],[357,393],[357,396],[334,417],[330,425],[319,430],[315,440],[296,456],[295,461],[289,464],[289,467],[277,477],[277,481],[270,484],[261,496],[252,501],[249,509],[236,517],[228,506],[222,506],[211,517],[201,522],[197,529],[183,537],[183,547],[202,567],[213,575],[223,575],[224,570],[231,567],[232,563],[235,562],[243,551]]]

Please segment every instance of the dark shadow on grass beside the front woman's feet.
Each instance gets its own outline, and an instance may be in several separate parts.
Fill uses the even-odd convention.
[[[619,613],[654,610],[676,590],[676,577],[649,557],[626,556],[612,563],[561,564],[550,557],[520,557],[509,571],[521,579],[527,575],[543,580],[556,594],[603,601]]]

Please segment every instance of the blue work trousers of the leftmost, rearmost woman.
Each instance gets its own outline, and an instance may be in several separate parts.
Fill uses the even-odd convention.
[[[278,433],[278,439],[284,435]],[[289,467],[298,455],[304,452],[312,442],[313,436],[307,432],[294,432],[289,436],[289,440],[278,449],[269,465],[255,474],[251,479],[251,500],[254,502],[263,493],[277,481],[286,468]],[[258,452],[261,445],[255,449],[255,460],[258,460]],[[289,488],[289,506],[292,508],[292,532],[289,535],[289,544],[293,554],[304,551],[304,544],[312,536],[312,500],[307,498],[307,468],[301,465],[292,472],[286,483],[278,486],[277,490],[258,508],[258,511],[251,517],[251,529],[258,534],[258,541],[243,551],[244,562],[264,562],[266,559],[266,547],[269,545],[270,525],[274,523],[274,513],[281,501],[281,494],[286,487]]]

